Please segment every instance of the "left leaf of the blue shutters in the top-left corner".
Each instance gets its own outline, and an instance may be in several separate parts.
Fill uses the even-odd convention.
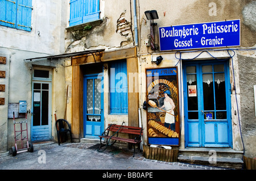
[[[16,27],[16,3],[17,0],[0,0],[0,25]]]

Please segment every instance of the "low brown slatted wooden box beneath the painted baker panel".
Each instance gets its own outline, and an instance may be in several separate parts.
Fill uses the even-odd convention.
[[[143,145],[143,156],[147,159],[155,159],[164,162],[177,162],[179,150],[171,150],[164,148],[152,148]]]

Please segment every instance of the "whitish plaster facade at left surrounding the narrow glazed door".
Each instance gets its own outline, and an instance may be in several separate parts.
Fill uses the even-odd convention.
[[[27,110],[31,109],[31,80],[32,66],[47,66],[59,71],[53,72],[53,80],[56,82],[53,86],[52,96],[56,100],[56,104],[61,105],[59,110],[64,115],[63,95],[61,88],[64,88],[64,69],[60,64],[46,59],[24,61],[26,58],[43,57],[52,54],[60,54],[64,52],[64,33],[66,22],[63,18],[67,16],[68,2],[67,1],[32,1],[32,17],[31,17],[31,32],[16,30],[5,26],[0,26],[0,53],[9,55],[8,64],[6,66],[8,76],[6,78],[6,108],[0,109],[0,115],[5,117],[5,130],[0,134],[0,152],[7,151],[11,146],[14,146],[14,126],[13,119],[7,119],[8,104],[18,103],[19,100],[27,100]],[[61,62],[61,61],[60,61]],[[59,76],[59,77],[58,77]],[[64,83],[63,83],[64,82]],[[56,91],[56,92],[55,92]],[[55,96],[56,95],[56,96]],[[63,100],[63,102],[61,102]],[[54,107],[52,108],[54,109]],[[58,110],[58,109],[57,109]],[[52,112],[54,120],[54,112]],[[24,119],[15,119],[22,121]],[[0,124],[1,126],[2,124]],[[31,114],[28,114],[28,135],[30,138]],[[52,127],[55,131],[55,127]],[[55,131],[56,132],[56,131]],[[2,143],[4,143],[2,145]]]

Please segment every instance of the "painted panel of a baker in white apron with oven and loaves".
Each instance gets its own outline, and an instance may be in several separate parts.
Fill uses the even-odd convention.
[[[148,144],[179,145],[177,68],[146,69]]]

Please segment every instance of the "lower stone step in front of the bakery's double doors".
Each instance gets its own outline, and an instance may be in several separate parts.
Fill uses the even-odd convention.
[[[213,167],[222,167],[226,169],[242,169],[243,161],[241,158],[228,157],[204,157],[204,156],[188,156],[179,155],[177,160],[183,163],[191,163],[195,165],[205,165]]]

